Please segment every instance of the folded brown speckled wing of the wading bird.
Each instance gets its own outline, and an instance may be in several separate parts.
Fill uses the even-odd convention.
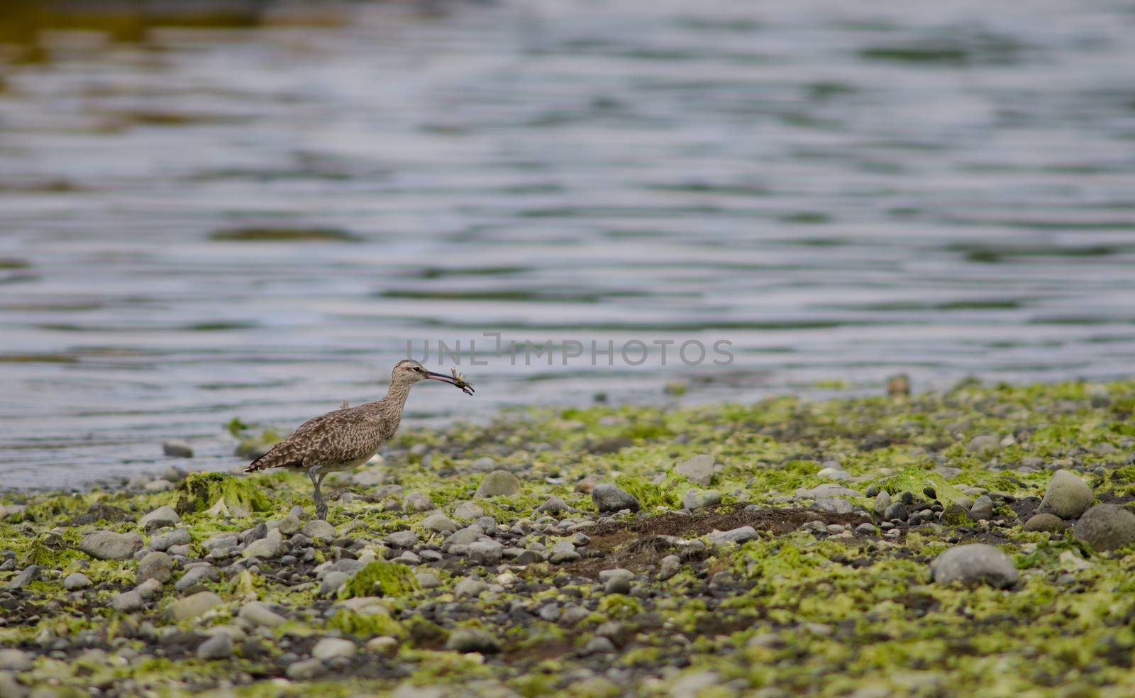
[[[269,468],[311,468],[350,463],[373,454],[379,427],[358,409],[336,410],[300,424],[286,439],[257,459],[244,472]]]

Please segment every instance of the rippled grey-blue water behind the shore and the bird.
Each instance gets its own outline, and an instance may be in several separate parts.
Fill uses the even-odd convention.
[[[1129,3],[242,8],[0,19],[0,487],[171,437],[232,468],[230,418],[373,400],[407,340],[484,331],[734,361],[488,358],[404,423],[1132,372]]]

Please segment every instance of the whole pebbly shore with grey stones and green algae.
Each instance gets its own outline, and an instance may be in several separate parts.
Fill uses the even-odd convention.
[[[1135,693],[1135,382],[897,393],[2,495],[0,698]]]

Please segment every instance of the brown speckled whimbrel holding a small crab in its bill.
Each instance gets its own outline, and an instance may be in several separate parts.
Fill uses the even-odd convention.
[[[269,468],[306,471],[316,487],[312,495],[316,516],[326,521],[327,503],[319,491],[323,478],[329,472],[361,465],[378,453],[382,444],[398,430],[406,396],[419,380],[440,380],[457,386],[468,395],[473,394],[473,388],[456,373],[456,369],[453,376],[434,373],[417,361],[403,359],[390,372],[390,388],[386,392],[386,397],[309,419],[292,436],[253,461],[244,472]]]

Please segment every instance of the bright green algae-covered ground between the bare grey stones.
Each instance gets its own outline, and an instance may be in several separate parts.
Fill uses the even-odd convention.
[[[1031,511],[1029,502],[1035,507],[1029,498],[1043,495],[1054,468],[1079,473],[1099,501],[1130,499],[1133,411],[1135,382],[966,384],[914,398],[536,410],[482,426],[405,429],[380,466],[385,491],[353,485],[350,473],[340,478],[329,518],[337,536],[361,541],[351,554],[394,557],[401,550],[389,550],[382,539],[401,530],[439,548],[442,536],[421,525],[428,512],[390,511],[388,503],[417,490],[452,516],[456,504],[473,497],[484,473],[474,463],[486,456],[523,483],[518,495],[477,501],[502,530],[529,529],[526,539],[547,548],[578,532],[592,540],[580,547],[581,561],[565,565],[504,560],[502,566],[481,567],[445,556],[415,569],[436,573],[440,586],[429,589],[413,583],[401,563],[371,563],[340,597],[377,596],[377,585],[384,611],[377,614],[336,609],[335,599],[318,595],[311,567],[345,555],[342,539],[314,544],[312,561],[292,566],[266,561],[205,582],[227,604],[180,624],[166,615],[179,596],[173,581],[180,571],[143,609],[118,612],[111,599],[134,587],[137,563],[95,561],[77,549],[86,531],[100,528],[150,540],[161,531],[145,532],[137,520],[169,504],[182,513],[193,555],[200,556],[201,543],[219,532],[280,519],[295,505],[310,512],[310,485],[302,474],[191,476],[165,493],[11,493],[0,499],[8,507],[0,520],[0,552],[14,563],[0,572],[0,583],[32,564],[42,574],[23,589],[0,591],[0,642],[34,657],[33,668],[14,674],[23,684],[60,695],[95,687],[104,695],[348,696],[403,683],[523,696],[654,696],[679,689],[703,696],[860,698],[1135,695],[1135,550],[1096,553],[1067,532],[1026,532],[1015,508]],[[975,447],[976,436],[992,436],[995,445]],[[674,471],[697,454],[713,455],[721,466],[713,482],[723,494],[721,508],[666,513],[687,488],[704,488]],[[799,521],[835,521],[816,512],[785,514],[791,524],[777,525],[780,519],[768,512],[807,507],[810,499],[797,498],[797,490],[825,482],[817,473],[831,462],[851,474],[842,485],[860,493],[874,486],[922,497],[931,487],[945,503],[978,487],[1008,497],[998,499],[986,523],[925,523],[891,536],[798,530]],[[578,490],[607,481],[634,494],[642,511],[625,521],[580,527],[597,513]],[[328,485],[325,491],[336,487]],[[541,520],[536,507],[550,496],[573,511]],[[229,501],[226,511],[210,511],[217,498]],[[851,499],[871,511],[867,497]],[[745,512],[742,504],[759,511]],[[67,525],[91,512],[101,519]],[[730,516],[750,514],[746,521],[758,537],[740,546],[674,547],[658,537],[704,543],[707,516],[718,516],[712,521],[726,528]],[[970,541],[1012,555],[1020,581],[1006,590],[932,583],[930,561]],[[657,563],[669,554],[680,554],[682,565],[661,580]],[[605,594],[596,572],[616,566],[607,558],[637,574],[630,594]],[[77,571],[92,586],[67,591],[62,580]],[[468,577],[495,586],[459,599],[454,586]],[[173,631],[163,628],[176,625],[192,638],[210,625],[233,623],[252,598],[289,609],[288,622],[250,633],[233,658],[202,661],[167,641]],[[565,623],[539,613],[549,604],[587,613]],[[447,650],[449,633],[470,624],[488,631],[501,651]],[[293,661],[286,655],[302,658],[328,634],[361,646],[379,636],[396,642],[393,651],[363,646],[311,681],[285,679]],[[613,651],[594,650],[600,636]]]

